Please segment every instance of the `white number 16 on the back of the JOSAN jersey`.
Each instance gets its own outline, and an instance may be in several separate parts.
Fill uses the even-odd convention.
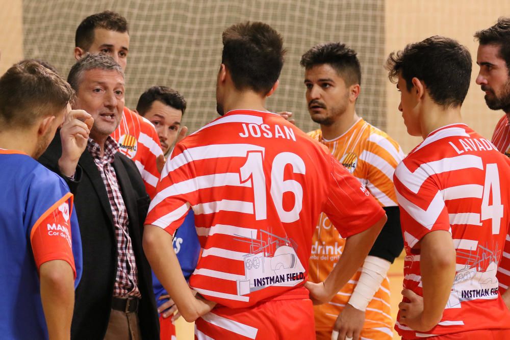
[[[295,153],[278,153],[271,167],[271,188],[269,190],[278,217],[282,222],[292,223],[299,219],[299,213],[303,207],[303,188],[294,179],[284,180],[285,167],[290,164],[294,173],[305,173],[303,160]],[[239,169],[241,183],[251,178],[253,188],[255,218],[265,220],[267,218],[266,202],[266,177],[264,175],[262,152],[248,152],[246,163]],[[286,192],[294,194],[294,206],[290,211],[283,207],[283,195]]]

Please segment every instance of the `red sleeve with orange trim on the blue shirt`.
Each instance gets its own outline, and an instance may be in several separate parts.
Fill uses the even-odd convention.
[[[72,197],[67,193],[39,217],[30,232],[30,242],[37,270],[47,261],[64,260],[76,278],[70,224]]]

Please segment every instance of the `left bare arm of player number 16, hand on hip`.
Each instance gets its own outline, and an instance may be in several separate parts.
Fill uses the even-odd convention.
[[[172,236],[154,225],[146,225],[143,232],[143,250],[152,270],[165,287],[187,322],[193,322],[205,315],[216,305],[200,295],[194,295],[184,278],[179,260],[175,255]]]

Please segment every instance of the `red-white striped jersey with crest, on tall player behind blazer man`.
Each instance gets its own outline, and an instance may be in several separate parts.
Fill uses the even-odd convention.
[[[135,162],[150,198],[156,194],[159,171],[156,159],[163,154],[154,125],[136,112],[124,107],[119,127],[111,135],[119,150]]]

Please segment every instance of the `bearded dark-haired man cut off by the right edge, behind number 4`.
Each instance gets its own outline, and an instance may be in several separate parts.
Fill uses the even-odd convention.
[[[510,18],[501,17],[492,27],[475,33],[478,39],[476,63],[480,71],[476,84],[485,91],[485,102],[491,110],[503,110],[492,143],[498,150],[510,157]],[[510,308],[510,235],[507,236],[505,249],[498,268],[499,290],[508,308]]]

